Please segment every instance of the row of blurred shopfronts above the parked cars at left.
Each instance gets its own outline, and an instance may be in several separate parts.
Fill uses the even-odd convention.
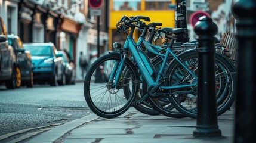
[[[103,13],[107,14],[104,1]],[[0,15],[8,34],[20,36],[23,43],[52,42],[66,50],[76,65],[77,80],[83,80],[78,64],[79,53],[90,57],[97,46],[97,25],[85,0],[0,0]],[[104,15],[106,16],[106,15]],[[107,24],[101,16],[100,46],[108,43]],[[105,45],[104,45],[105,44]],[[88,58],[90,60],[90,58]]]

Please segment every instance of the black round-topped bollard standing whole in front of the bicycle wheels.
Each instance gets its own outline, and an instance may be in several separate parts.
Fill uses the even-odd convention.
[[[199,18],[195,25],[198,35],[198,112],[194,137],[221,136],[217,119],[215,83],[215,38],[217,25],[209,17]]]

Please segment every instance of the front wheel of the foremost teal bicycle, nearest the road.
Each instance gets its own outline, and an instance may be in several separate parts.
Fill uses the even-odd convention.
[[[98,58],[90,67],[84,80],[84,97],[88,107],[100,117],[113,118],[125,113],[140,89],[140,77],[134,64],[125,60],[124,69],[121,71],[118,85],[113,85],[115,77],[113,67],[121,62],[120,55],[107,54]],[[124,76],[125,73],[129,76]],[[124,94],[124,89],[129,90],[129,95]]]

